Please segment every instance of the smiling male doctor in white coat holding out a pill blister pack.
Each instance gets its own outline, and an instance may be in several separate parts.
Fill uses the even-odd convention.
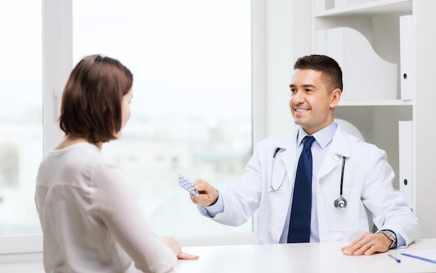
[[[302,140],[309,135],[315,138],[309,242],[347,242],[343,253],[355,256],[412,243],[419,237],[418,221],[392,186],[386,153],[334,121],[343,88],[338,63],[328,56],[304,56],[294,70],[289,106],[298,126],[260,141],[245,173],[225,191],[195,180],[201,194],[191,195],[192,202],[205,217],[230,226],[244,224],[258,210],[258,242],[288,242],[295,173]]]

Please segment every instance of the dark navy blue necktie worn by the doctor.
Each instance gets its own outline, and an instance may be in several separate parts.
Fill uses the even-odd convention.
[[[315,138],[306,136],[295,174],[293,203],[290,209],[288,242],[309,242],[312,208],[312,152]]]

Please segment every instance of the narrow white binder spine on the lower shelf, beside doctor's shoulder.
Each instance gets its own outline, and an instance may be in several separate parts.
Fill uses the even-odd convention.
[[[413,139],[412,120],[398,121],[398,151],[400,193],[409,208],[413,208]]]

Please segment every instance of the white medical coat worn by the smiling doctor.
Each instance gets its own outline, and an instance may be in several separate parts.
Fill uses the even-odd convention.
[[[288,134],[260,141],[240,180],[219,192],[224,212],[213,219],[221,224],[240,226],[258,210],[258,242],[278,243],[283,233],[293,194],[296,169],[298,127]],[[274,188],[271,191],[272,156],[277,148],[284,151],[274,166]],[[343,197],[348,205],[334,207],[339,196],[342,158],[346,157]],[[320,166],[316,183],[316,205],[320,242],[351,241],[363,231],[371,231],[366,208],[380,229],[399,233],[406,245],[419,237],[416,217],[403,196],[392,186],[394,171],[384,150],[365,143],[341,130],[338,125],[332,143]],[[202,213],[208,216],[204,212]]]

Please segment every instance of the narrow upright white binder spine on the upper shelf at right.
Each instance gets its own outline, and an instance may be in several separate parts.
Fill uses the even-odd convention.
[[[412,15],[400,16],[400,93],[401,100],[413,98]]]

